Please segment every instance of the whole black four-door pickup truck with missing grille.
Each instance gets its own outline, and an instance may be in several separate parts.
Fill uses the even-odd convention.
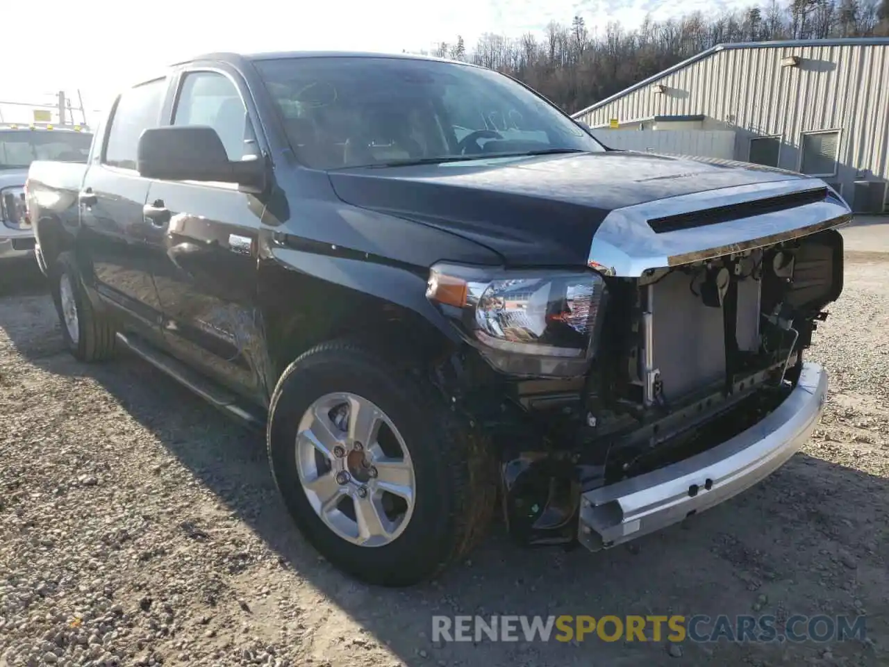
[[[316,549],[404,585],[498,510],[600,550],[813,430],[843,284],[824,182],[607,149],[485,68],[210,54],[122,92],[27,205],[62,334],[264,428]]]

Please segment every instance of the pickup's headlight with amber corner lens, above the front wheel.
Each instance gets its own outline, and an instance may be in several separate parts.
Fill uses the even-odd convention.
[[[593,270],[491,270],[436,264],[426,296],[498,370],[585,374],[607,293]]]

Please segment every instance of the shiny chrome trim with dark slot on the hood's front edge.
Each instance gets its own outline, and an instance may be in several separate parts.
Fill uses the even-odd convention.
[[[655,233],[648,225],[653,218],[706,211],[717,206],[825,187],[829,194],[824,201],[787,211],[762,213],[661,234]],[[740,253],[805,237],[821,229],[840,227],[850,221],[852,211],[849,206],[821,179],[795,177],[788,181],[707,190],[615,209],[605,216],[593,235],[589,266],[611,276],[641,277],[647,269],[679,266],[728,253]]]

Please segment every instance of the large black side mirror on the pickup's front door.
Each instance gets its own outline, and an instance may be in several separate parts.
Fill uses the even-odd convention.
[[[144,130],[136,149],[136,168],[144,178],[237,183],[251,191],[261,191],[266,178],[261,160],[229,160],[219,134],[205,125]]]

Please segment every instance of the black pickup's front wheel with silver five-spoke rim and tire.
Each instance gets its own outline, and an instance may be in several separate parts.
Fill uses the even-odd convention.
[[[348,342],[284,371],[268,456],[300,531],[366,583],[419,583],[467,553],[493,513],[485,446],[431,382]]]

